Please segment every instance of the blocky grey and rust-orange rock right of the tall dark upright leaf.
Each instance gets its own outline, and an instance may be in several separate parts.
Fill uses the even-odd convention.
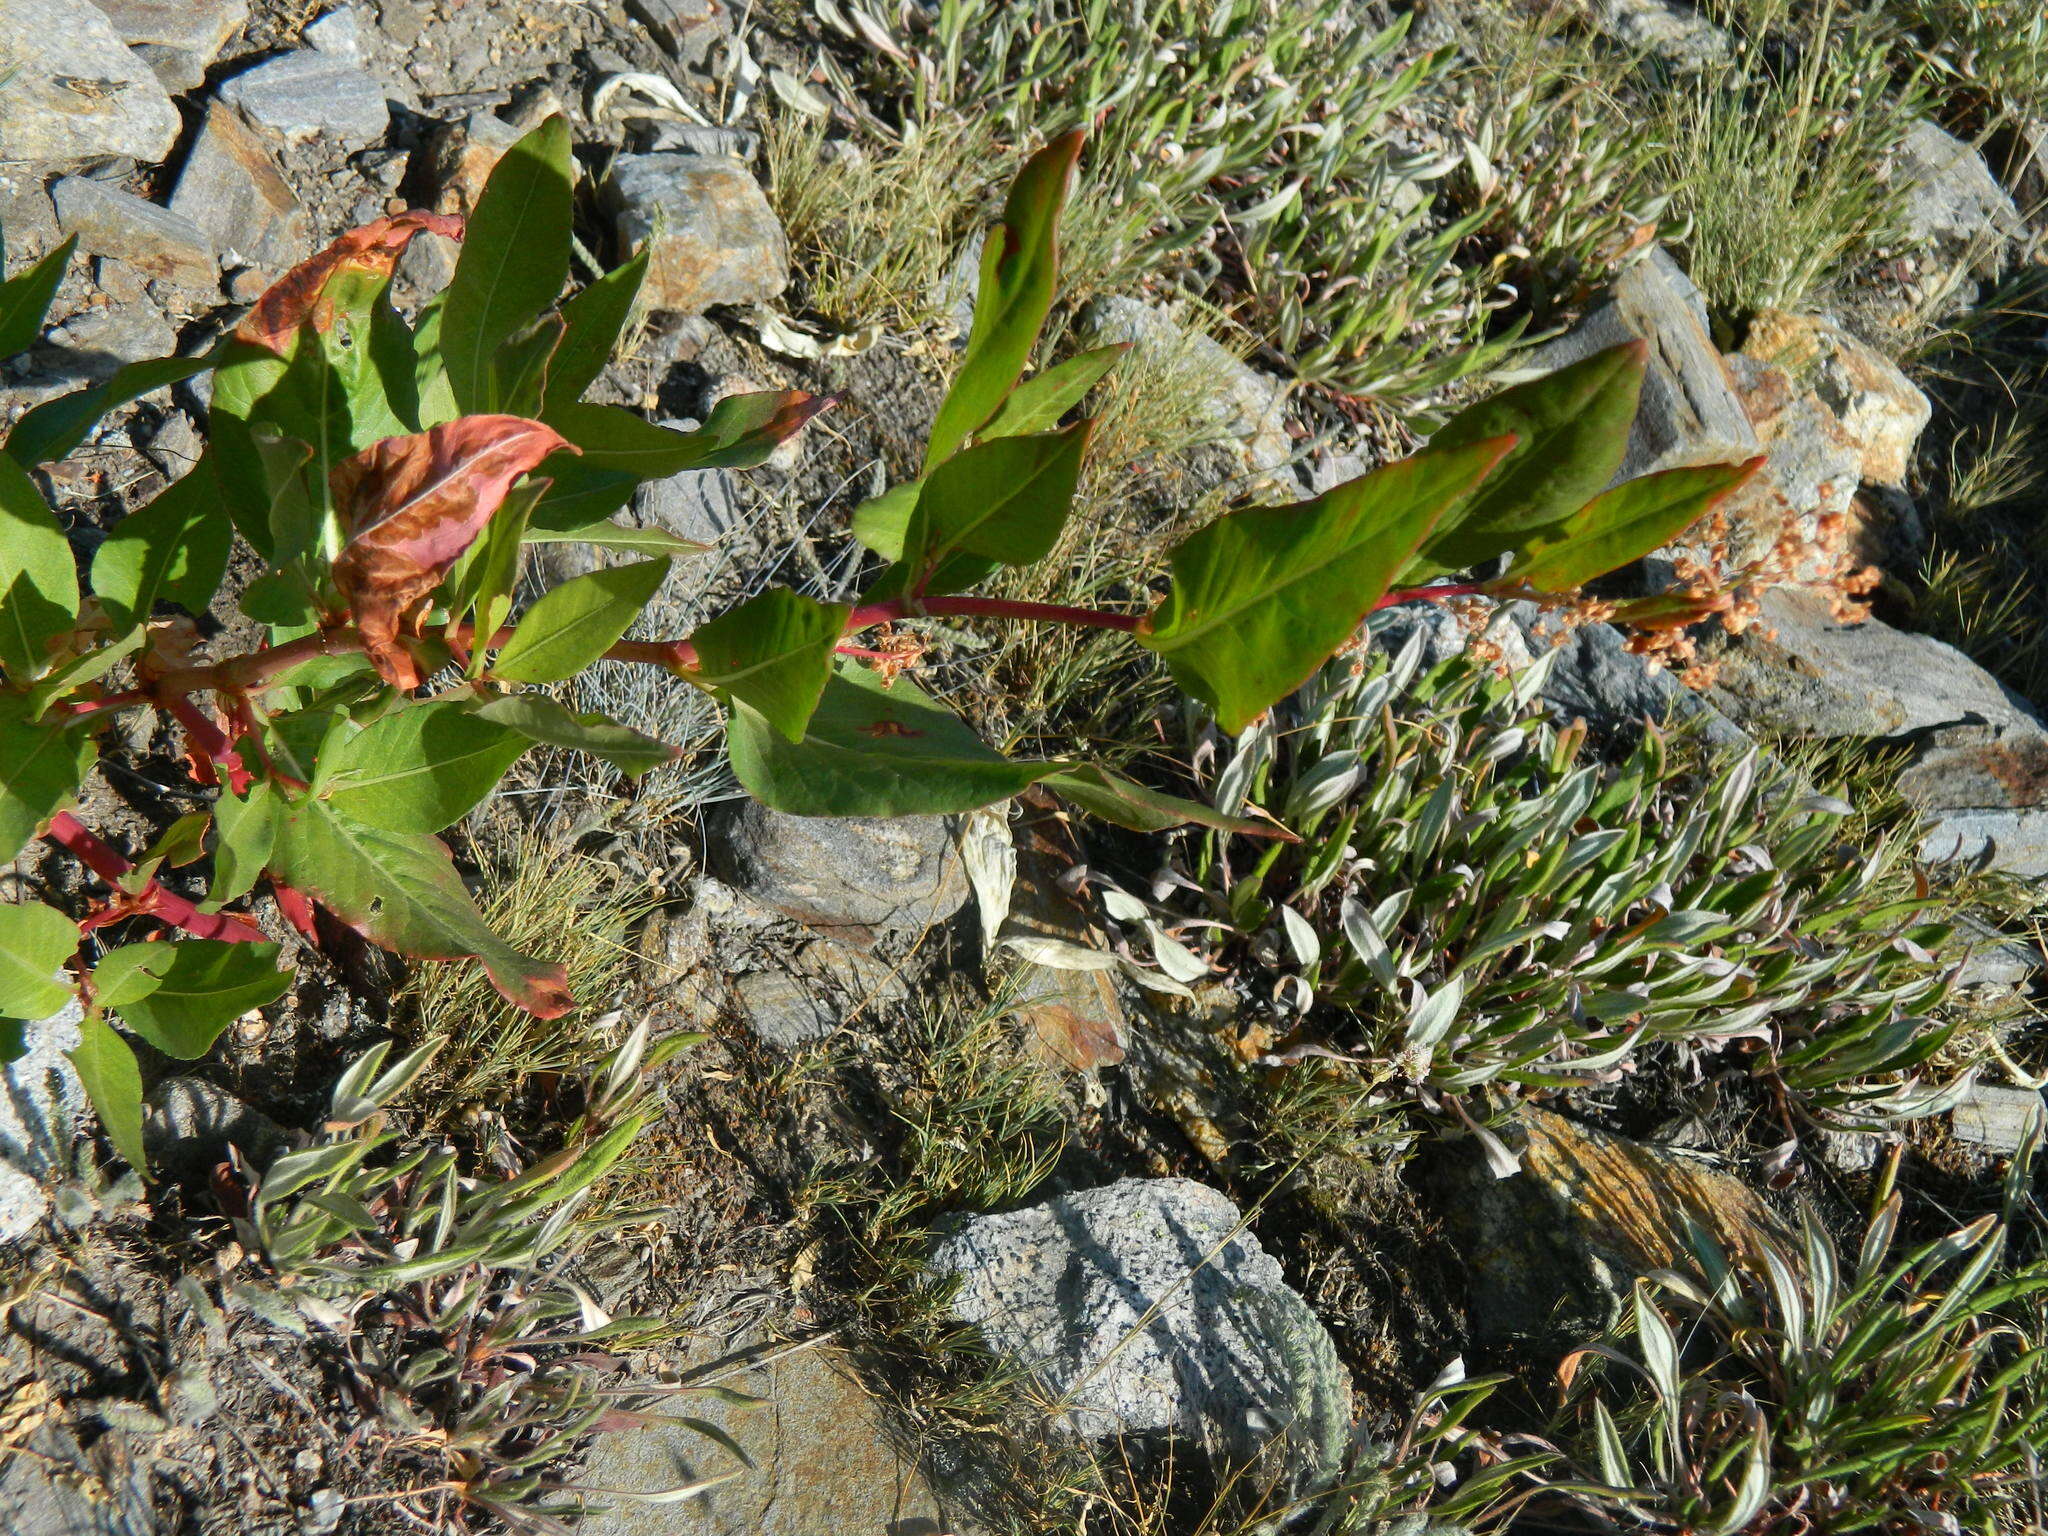
[[[721,303],[772,303],[788,287],[788,240],[745,166],[618,156],[606,190],[618,240],[651,246],[641,289],[649,309],[700,315]]]

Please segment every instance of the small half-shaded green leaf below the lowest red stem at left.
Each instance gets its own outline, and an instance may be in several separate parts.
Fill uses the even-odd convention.
[[[246,1012],[285,995],[291,973],[276,969],[276,944],[217,938],[123,944],[92,967],[92,987],[166,1057],[197,1061]]]

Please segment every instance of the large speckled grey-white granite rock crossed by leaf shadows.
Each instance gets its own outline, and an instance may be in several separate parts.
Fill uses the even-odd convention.
[[[938,1243],[952,1311],[1028,1366],[1087,1438],[1180,1434],[1219,1460],[1333,1470],[1352,1384],[1280,1264],[1192,1180],[1122,1180]]]

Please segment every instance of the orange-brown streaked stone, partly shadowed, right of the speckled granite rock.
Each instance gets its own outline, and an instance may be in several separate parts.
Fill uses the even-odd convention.
[[[1495,1178],[1477,1149],[1448,1204],[1473,1274],[1473,1331],[1509,1337],[1597,1329],[1651,1270],[1702,1272],[1704,1237],[1759,1266],[1788,1233],[1749,1180],[1686,1153],[1610,1137],[1524,1106],[1503,1133],[1522,1171]]]

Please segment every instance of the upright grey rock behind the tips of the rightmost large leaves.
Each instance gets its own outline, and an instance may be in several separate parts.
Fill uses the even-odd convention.
[[[1755,457],[1757,434],[1708,334],[1700,291],[1663,250],[1622,272],[1608,301],[1538,348],[1528,371],[1552,373],[1634,340],[1651,346],[1649,373],[1616,479]]]

